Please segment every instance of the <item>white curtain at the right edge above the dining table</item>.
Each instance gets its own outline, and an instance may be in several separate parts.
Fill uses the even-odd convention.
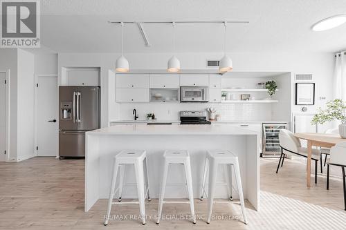
[[[334,70],[334,99],[346,101],[346,51],[336,54]]]

